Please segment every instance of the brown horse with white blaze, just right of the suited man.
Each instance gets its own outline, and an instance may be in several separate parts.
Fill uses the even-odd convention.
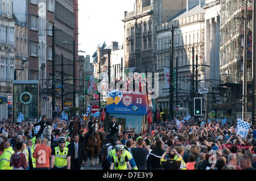
[[[90,152],[92,154],[90,166],[95,167],[95,166],[98,166],[98,164],[99,164],[98,155],[101,150],[101,137],[100,137],[100,133],[99,133],[100,123],[98,123],[98,120],[94,121],[93,130],[94,131],[92,132],[92,135],[90,135],[88,137],[88,140],[85,140],[84,147],[85,147],[85,155],[86,156],[88,155],[87,148],[90,149]],[[88,133],[88,132],[86,132],[86,133]],[[84,137],[85,137],[85,135],[84,135]],[[96,155],[97,155],[97,158],[96,158],[96,163],[95,163],[94,158],[96,157]]]

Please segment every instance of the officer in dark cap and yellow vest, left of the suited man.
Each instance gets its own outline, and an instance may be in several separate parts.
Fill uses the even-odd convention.
[[[69,170],[71,167],[71,153],[65,146],[65,137],[59,137],[59,146],[56,146],[51,153],[51,169]]]

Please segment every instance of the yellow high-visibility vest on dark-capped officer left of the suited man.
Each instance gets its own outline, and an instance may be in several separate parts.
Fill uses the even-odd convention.
[[[59,146],[55,147],[55,161],[54,166],[57,168],[63,168],[68,165],[67,163],[67,155],[68,155],[68,148],[64,147],[63,152],[61,153]]]

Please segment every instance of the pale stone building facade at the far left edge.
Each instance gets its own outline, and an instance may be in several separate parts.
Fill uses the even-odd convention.
[[[0,5],[0,120],[11,119],[8,98],[12,97],[15,69],[15,20],[11,0]]]

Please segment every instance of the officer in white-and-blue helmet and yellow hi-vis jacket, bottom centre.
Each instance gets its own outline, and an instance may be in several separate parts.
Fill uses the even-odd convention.
[[[110,170],[131,170],[127,155],[123,154],[123,145],[115,146],[115,154],[112,157]]]

